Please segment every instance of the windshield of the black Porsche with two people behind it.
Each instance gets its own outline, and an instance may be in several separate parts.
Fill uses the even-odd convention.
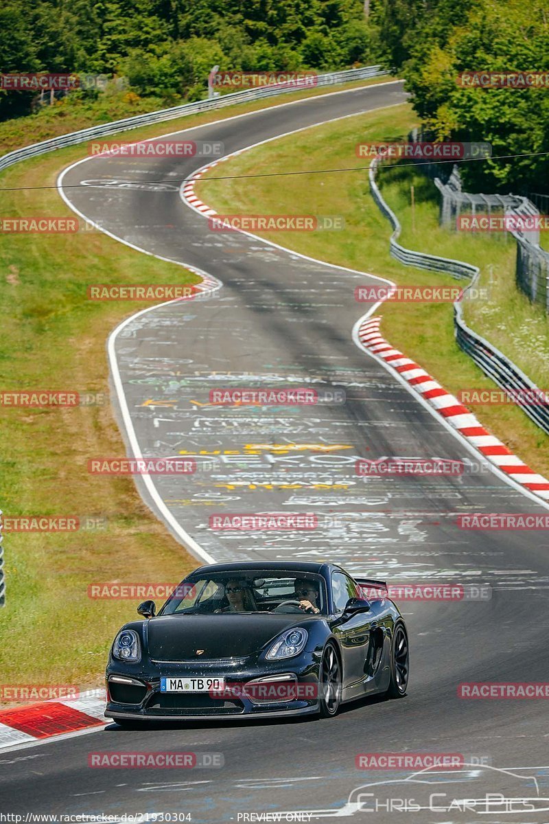
[[[162,607],[161,615],[220,612],[307,612],[327,614],[323,578],[315,574],[238,569],[185,578]]]

